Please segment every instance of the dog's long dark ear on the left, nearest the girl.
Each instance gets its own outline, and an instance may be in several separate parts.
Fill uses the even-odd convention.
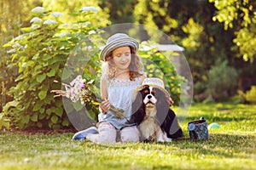
[[[131,105],[131,122],[139,125],[143,122],[143,118],[145,115],[145,106],[143,105],[143,95],[140,91],[136,92],[136,97]]]

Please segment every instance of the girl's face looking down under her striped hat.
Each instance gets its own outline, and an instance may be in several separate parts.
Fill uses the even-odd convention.
[[[115,48],[112,54],[117,71],[127,71],[131,64],[131,49],[128,46]]]

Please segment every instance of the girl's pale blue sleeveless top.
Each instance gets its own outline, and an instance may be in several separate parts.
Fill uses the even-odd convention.
[[[108,111],[106,114],[99,114],[99,122],[110,122],[117,129],[134,126],[135,124],[131,124],[127,120],[130,120],[132,115],[131,104],[133,102],[133,91],[141,82],[141,77],[137,77],[135,81],[123,81],[115,78],[111,80],[107,79],[108,99],[113,106],[124,111],[126,119],[117,119],[111,111]]]

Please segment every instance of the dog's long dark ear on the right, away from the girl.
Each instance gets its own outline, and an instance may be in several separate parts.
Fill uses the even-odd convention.
[[[160,125],[166,120],[166,116],[168,115],[169,111],[169,103],[166,99],[166,94],[163,93],[159,88],[155,88],[155,98],[157,99],[156,103],[156,117]]]

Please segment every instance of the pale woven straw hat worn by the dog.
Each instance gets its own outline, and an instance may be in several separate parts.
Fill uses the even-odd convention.
[[[145,78],[142,85],[136,88],[136,91],[140,91],[144,88],[145,85],[151,86],[153,88],[159,88],[162,92],[164,92],[167,96],[170,94],[167,92],[165,88],[164,82],[160,78],[156,77],[148,77]]]

